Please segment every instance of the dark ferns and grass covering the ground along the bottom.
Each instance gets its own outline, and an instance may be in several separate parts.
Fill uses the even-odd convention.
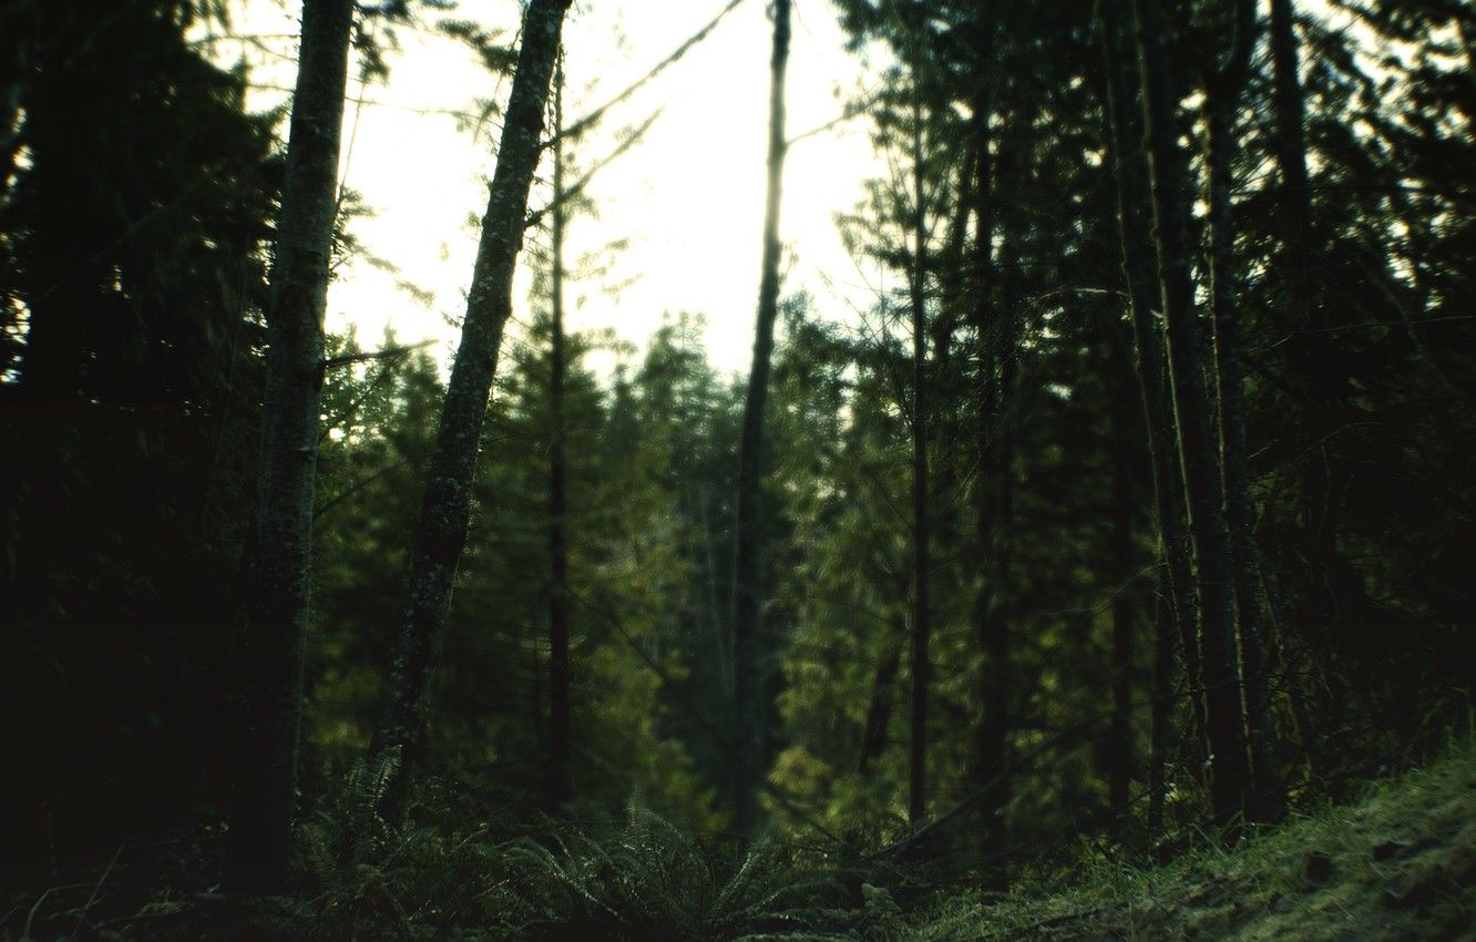
[[[1008,892],[937,861],[759,842],[738,852],[645,811],[602,827],[409,828],[348,849],[303,825],[289,895],[202,886],[211,840],[124,846],[96,879],[10,899],[6,942],[173,939],[750,941],[1476,938],[1476,743],[1225,846],[1166,862],[1083,843]],[[1159,852],[1162,856],[1162,850]],[[152,883],[151,883],[152,881]]]

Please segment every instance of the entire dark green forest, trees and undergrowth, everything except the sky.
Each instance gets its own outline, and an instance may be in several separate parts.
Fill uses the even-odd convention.
[[[568,326],[601,1],[289,3],[252,111],[233,3],[0,0],[0,939],[1166,939],[1134,880],[1272,858],[1199,938],[1470,938],[1476,7],[747,0],[734,375]],[[785,286],[804,6],[855,310]],[[325,331],[393,30],[494,94],[446,359]]]

